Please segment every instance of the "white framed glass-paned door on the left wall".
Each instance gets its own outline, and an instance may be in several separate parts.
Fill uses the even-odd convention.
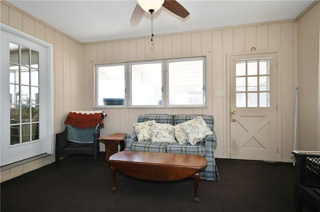
[[[52,153],[46,46],[1,28],[1,165]]]

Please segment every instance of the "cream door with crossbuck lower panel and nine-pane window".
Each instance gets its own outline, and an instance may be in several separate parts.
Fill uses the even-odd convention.
[[[229,61],[230,157],[276,161],[276,53]]]

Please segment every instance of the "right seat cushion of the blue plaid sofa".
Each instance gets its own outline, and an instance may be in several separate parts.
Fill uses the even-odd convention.
[[[169,143],[166,146],[166,152],[178,154],[199,154],[204,156],[205,147],[204,142],[198,142],[196,145],[191,145],[190,143],[180,145],[178,142],[175,142]]]

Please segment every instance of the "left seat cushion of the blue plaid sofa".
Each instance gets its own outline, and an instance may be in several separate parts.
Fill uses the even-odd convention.
[[[131,144],[132,151],[166,152],[167,142],[152,143],[151,140],[136,141]]]

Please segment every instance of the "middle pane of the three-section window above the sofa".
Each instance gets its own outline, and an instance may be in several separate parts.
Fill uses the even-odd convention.
[[[131,64],[131,105],[162,105],[162,63]]]

